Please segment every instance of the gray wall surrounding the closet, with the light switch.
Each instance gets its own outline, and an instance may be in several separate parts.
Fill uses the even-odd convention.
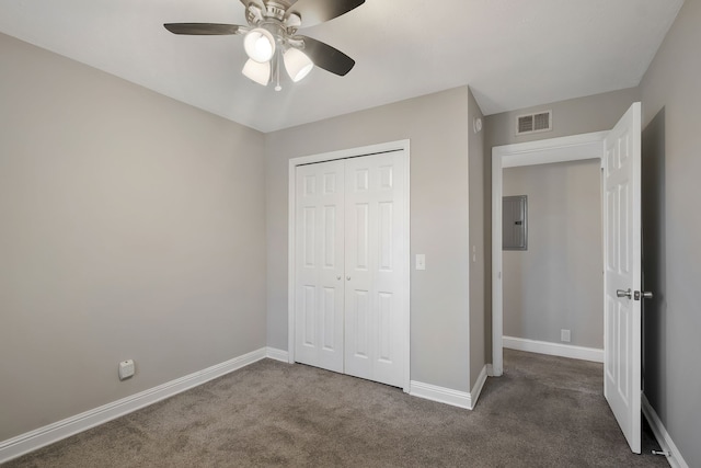
[[[411,378],[469,391],[471,125],[464,87],[266,135],[268,345],[287,350],[288,160],[409,138]]]

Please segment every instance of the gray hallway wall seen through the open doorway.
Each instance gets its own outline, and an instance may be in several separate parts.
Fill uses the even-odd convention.
[[[604,347],[600,160],[504,169],[528,196],[528,250],[504,251],[504,334]]]

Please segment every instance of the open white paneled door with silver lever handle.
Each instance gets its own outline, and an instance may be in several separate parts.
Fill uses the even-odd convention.
[[[605,139],[604,395],[641,452],[641,105]]]

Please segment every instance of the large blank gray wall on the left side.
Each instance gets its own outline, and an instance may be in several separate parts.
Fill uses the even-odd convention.
[[[265,346],[263,135],[0,56],[0,441]]]

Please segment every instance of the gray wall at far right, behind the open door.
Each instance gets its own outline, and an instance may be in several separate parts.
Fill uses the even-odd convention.
[[[643,102],[644,393],[701,466],[701,2],[687,1],[640,89]]]

